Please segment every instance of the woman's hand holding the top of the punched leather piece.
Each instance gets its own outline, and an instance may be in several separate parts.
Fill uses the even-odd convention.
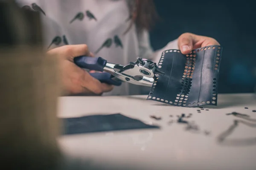
[[[181,34],[178,38],[178,46],[182,54],[189,54],[193,49],[209,45],[220,45],[217,40],[192,33]]]

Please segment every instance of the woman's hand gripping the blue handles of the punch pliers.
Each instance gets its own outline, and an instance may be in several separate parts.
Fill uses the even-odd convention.
[[[74,63],[75,57],[93,57],[87,45],[64,45],[48,51],[47,54],[60,59],[61,79],[66,95],[101,95],[113,89],[113,85],[99,82]]]

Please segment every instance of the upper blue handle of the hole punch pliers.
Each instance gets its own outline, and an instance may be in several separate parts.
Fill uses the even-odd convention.
[[[103,59],[102,57],[86,57],[80,56],[75,57],[74,62],[81,68],[86,68],[89,70],[101,71],[103,72],[103,68],[107,64],[107,60]]]

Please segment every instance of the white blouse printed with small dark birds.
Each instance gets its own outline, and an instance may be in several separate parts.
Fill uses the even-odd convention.
[[[96,57],[127,65],[136,57],[158,62],[166,49],[178,49],[177,40],[159,51],[153,51],[148,31],[137,32],[135,24],[128,29],[129,9],[126,0],[16,0],[24,8],[41,13],[44,45],[49,50],[66,44],[87,44]],[[48,48],[49,47],[49,48]],[[103,95],[134,95],[149,88],[124,82]]]

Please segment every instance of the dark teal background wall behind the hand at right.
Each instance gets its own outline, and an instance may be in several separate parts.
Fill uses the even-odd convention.
[[[223,46],[219,93],[248,93],[256,86],[256,9],[254,2],[154,0],[161,17],[151,31],[157,50],[180,34],[215,38]]]

